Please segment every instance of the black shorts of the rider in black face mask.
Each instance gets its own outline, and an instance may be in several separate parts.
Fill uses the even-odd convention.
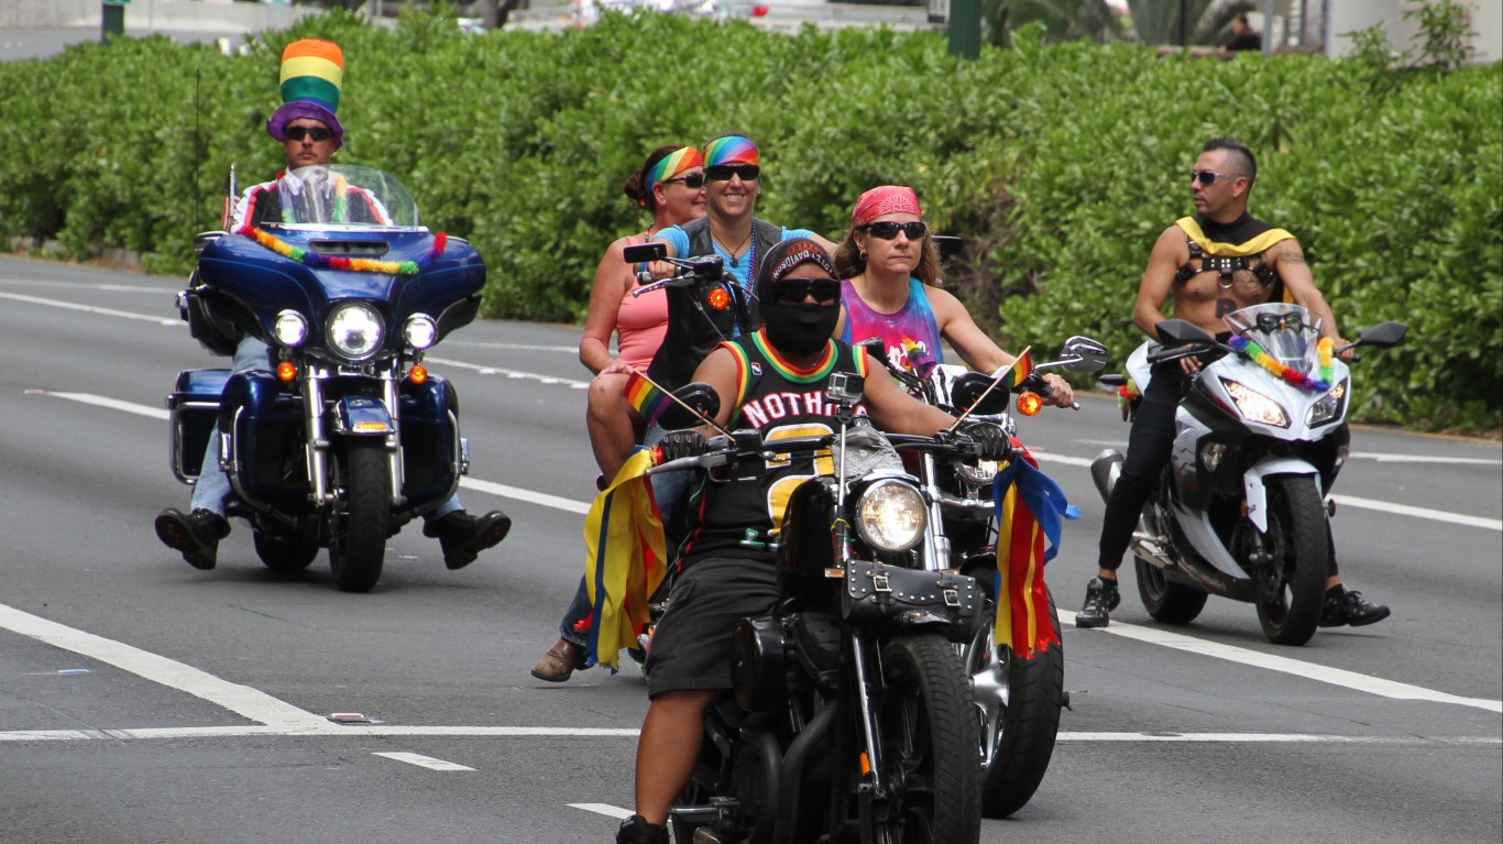
[[[729,689],[736,621],[777,603],[771,561],[708,558],[684,569],[652,629],[648,697],[678,689]]]

